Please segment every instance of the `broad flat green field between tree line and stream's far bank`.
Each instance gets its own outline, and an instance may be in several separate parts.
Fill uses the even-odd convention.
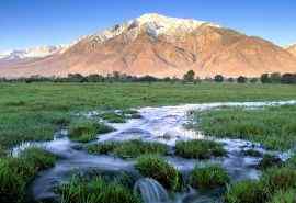
[[[295,86],[237,83],[0,83],[0,148],[53,138],[73,112],[217,101],[296,99]]]

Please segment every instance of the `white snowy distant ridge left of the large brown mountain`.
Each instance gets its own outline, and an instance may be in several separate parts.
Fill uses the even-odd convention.
[[[0,53],[0,59],[3,60],[15,60],[15,59],[25,59],[25,58],[43,58],[46,56],[54,55],[61,52],[66,46],[39,46],[20,50],[11,50]]]

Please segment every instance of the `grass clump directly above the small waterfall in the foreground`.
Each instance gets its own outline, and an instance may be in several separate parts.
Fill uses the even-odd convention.
[[[141,156],[137,159],[135,167],[144,177],[157,180],[171,191],[177,191],[181,188],[182,179],[179,171],[158,156]]]

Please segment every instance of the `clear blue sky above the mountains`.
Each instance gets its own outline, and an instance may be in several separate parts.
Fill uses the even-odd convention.
[[[149,12],[296,43],[295,0],[1,0],[0,50],[67,44]]]

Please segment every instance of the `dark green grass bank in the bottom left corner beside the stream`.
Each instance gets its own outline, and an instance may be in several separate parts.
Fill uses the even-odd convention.
[[[38,148],[31,148],[18,158],[0,158],[0,202],[23,203],[26,188],[41,170],[50,168],[57,158]]]

